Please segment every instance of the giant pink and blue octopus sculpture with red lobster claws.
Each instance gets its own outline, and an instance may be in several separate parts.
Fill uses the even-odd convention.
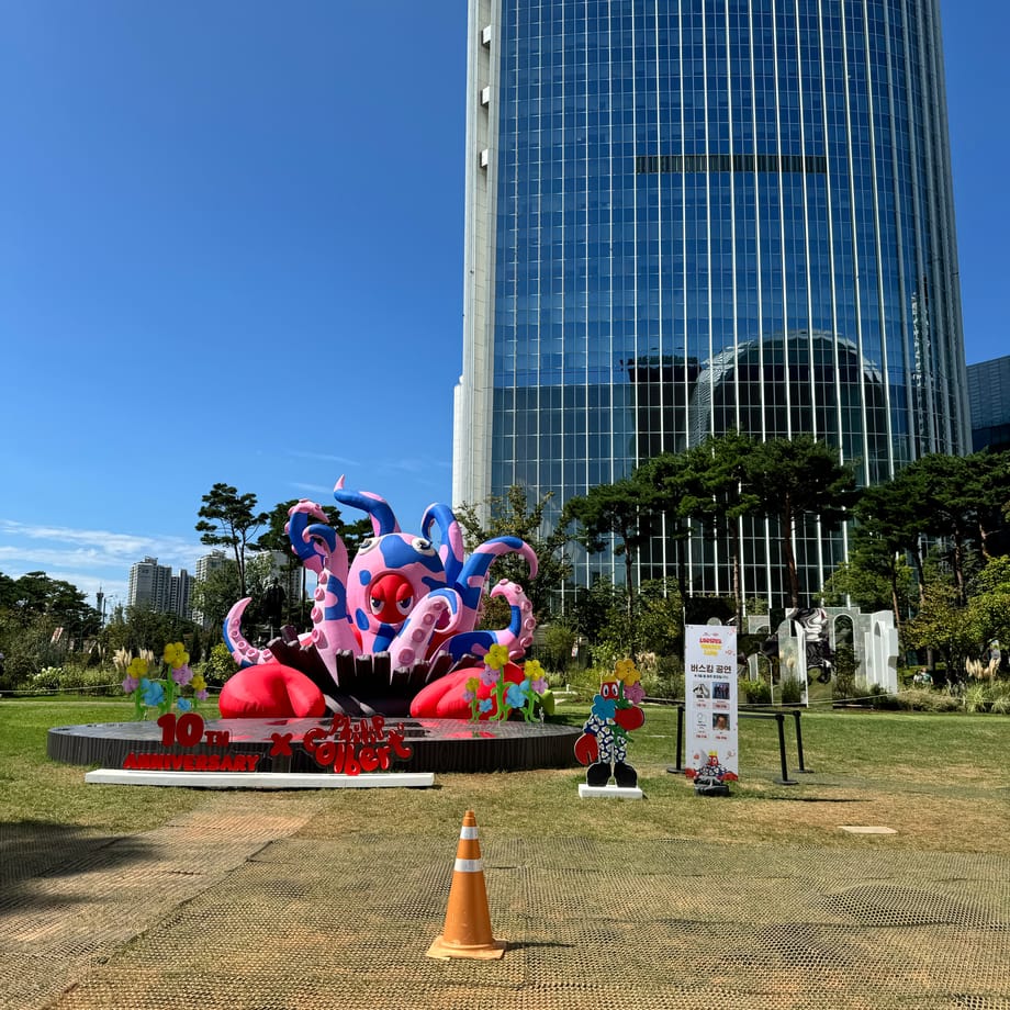
[[[505,580],[490,595],[508,602],[508,627],[475,629],[491,563],[517,553],[535,576],[532,548],[518,537],[495,537],[465,558],[459,523],[447,505],[429,505],[420,535],[412,535],[401,530],[383,498],[347,491],[343,476],[334,497],[367,513],[373,536],[349,564],[321,506],[307,500],[292,506],[285,527],[292,550],[316,575],[312,631],[298,636],[285,629],[280,639],[256,648],[242,633],[249,598],[236,603],[225,618],[224,640],[242,669],[222,689],[222,716],[403,715],[407,706],[414,716],[434,716],[447,714],[447,695],[453,696],[453,715],[467,710],[462,685],[473,665],[482,665],[476,660],[495,643],[518,660],[532,642],[529,599]],[[437,542],[429,539],[435,528]]]

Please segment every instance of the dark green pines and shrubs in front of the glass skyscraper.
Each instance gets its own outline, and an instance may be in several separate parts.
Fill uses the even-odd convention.
[[[538,509],[524,505],[523,490],[514,487],[484,503],[486,523],[474,507],[462,509],[461,520],[474,542],[489,535],[523,536],[539,529],[543,503]],[[545,549],[552,560],[530,587],[538,617],[625,652],[669,649],[663,621],[683,614],[687,588],[676,573],[638,584],[636,562],[656,530],[677,547],[693,527],[729,559],[729,613],[743,628],[743,519],[768,520],[793,607],[851,603],[866,611],[890,609],[902,647],[939,654],[953,675],[994,642],[1010,639],[1010,452],[925,456],[890,481],[860,487],[854,464],[810,436],[761,441],[736,431],[654,457],[627,478],[569,500],[550,541],[530,540],[539,543],[541,562]],[[810,587],[809,598],[801,594],[793,550],[806,520],[823,531],[848,523],[850,531],[849,561],[823,586]],[[624,586],[601,581],[571,587],[564,594],[570,602],[551,607],[559,598],[552,590],[571,572],[565,548],[572,542],[591,553],[611,549],[624,561]],[[509,577],[528,582],[520,568]],[[755,604],[764,613],[766,603]]]

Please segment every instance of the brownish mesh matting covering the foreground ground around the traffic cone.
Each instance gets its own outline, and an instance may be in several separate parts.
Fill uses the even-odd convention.
[[[0,1006],[1010,1010],[1003,856],[482,833],[509,947],[444,962],[456,840],[321,835],[323,803],[0,858]]]

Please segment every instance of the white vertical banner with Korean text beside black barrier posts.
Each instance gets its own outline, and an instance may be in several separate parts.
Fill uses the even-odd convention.
[[[737,754],[737,629],[684,629],[687,751],[684,774],[697,789],[726,789],[739,772]]]

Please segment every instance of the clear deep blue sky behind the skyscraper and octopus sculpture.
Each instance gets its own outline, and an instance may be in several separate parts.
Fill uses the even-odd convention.
[[[943,13],[970,363],[1010,354],[1010,14]],[[465,15],[0,0],[0,572],[192,572],[217,481],[449,501]]]

